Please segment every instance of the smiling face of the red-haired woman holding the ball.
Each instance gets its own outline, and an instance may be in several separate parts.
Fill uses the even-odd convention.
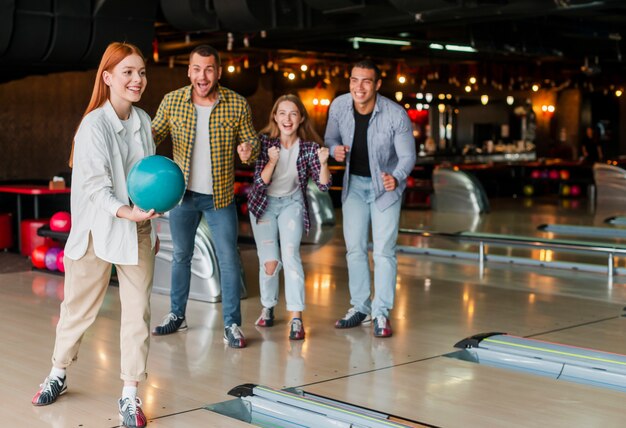
[[[111,90],[110,99],[113,105],[136,103],[141,99],[148,83],[146,64],[137,54],[127,56],[110,72],[104,71],[102,77]]]

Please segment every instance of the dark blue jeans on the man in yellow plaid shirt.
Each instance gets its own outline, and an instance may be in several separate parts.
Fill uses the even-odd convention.
[[[211,241],[215,246],[219,264],[224,325],[241,325],[239,301],[241,264],[237,252],[239,234],[237,208],[233,201],[227,207],[216,210],[213,205],[213,195],[187,191],[183,202],[170,211],[170,230],[174,245],[170,292],[171,311],[177,316],[185,316],[196,229],[202,215],[211,231]]]

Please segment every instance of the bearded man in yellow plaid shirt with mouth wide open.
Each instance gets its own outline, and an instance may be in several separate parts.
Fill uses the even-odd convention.
[[[238,220],[234,200],[235,147],[244,164],[259,153],[246,99],[219,85],[219,52],[201,45],[189,56],[191,85],[165,95],[152,121],[156,144],[172,137],[174,161],[185,174],[187,191],[170,212],[174,244],[170,313],[153,330],[165,335],[187,329],[191,259],[196,229],[204,215],[217,253],[222,291],[224,342],[244,348],[240,329],[241,263],[237,252]]]

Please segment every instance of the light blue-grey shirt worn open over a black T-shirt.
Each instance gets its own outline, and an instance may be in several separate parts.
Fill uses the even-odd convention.
[[[335,157],[335,147],[352,148],[354,141],[354,102],[351,94],[340,95],[330,105],[324,143]],[[376,94],[376,106],[367,128],[367,149],[370,171],[376,195],[376,206],[384,210],[402,197],[406,178],[415,166],[415,138],[411,120],[402,106]],[[393,175],[398,187],[385,191],[382,173]],[[341,202],[348,196],[350,177],[350,152],[346,154],[346,171],[343,176]]]

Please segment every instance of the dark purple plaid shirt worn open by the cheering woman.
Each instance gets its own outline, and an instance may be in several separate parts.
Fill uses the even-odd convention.
[[[269,155],[267,149],[270,147],[280,148],[280,139],[269,138],[265,134],[261,134],[261,153],[256,161],[254,167],[254,182],[252,183],[252,189],[248,194],[248,209],[257,219],[257,222],[267,209],[267,186],[261,178],[261,172],[267,162],[269,162]],[[320,169],[321,164],[319,157],[317,156],[317,149],[319,145],[312,141],[300,141],[300,151],[298,153],[298,159],[296,160],[296,170],[298,171],[298,184],[300,185],[300,191],[302,192],[304,200],[304,210],[302,212],[302,221],[304,223],[304,230],[308,234],[311,228],[311,220],[309,218],[309,200],[306,196],[306,188],[309,183],[309,178],[313,179],[317,187],[326,192],[330,188],[331,180],[327,184],[320,184]]]

